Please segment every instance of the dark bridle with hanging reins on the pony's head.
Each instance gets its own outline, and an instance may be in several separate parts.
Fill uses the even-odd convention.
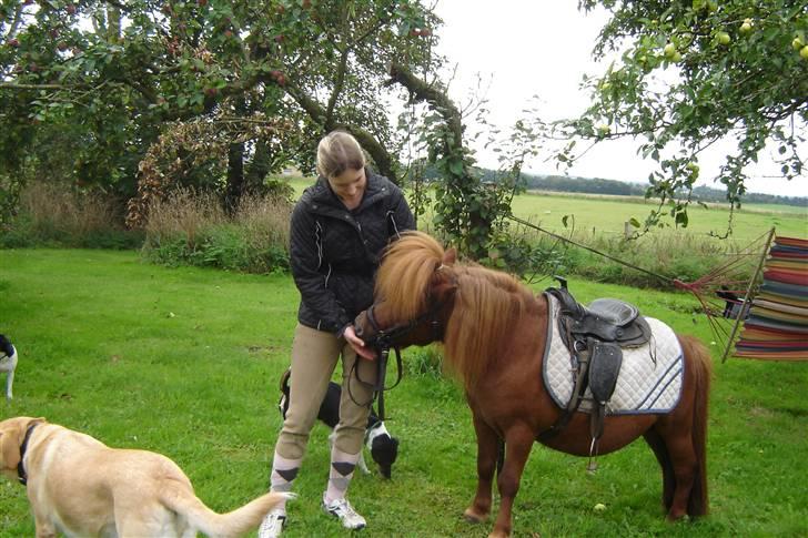
[[[402,338],[403,336],[406,336],[411,332],[413,332],[416,327],[421,326],[424,322],[428,322],[428,325],[432,327],[433,332],[433,342],[440,341],[443,338],[443,332],[444,327],[441,324],[441,319],[438,319],[438,313],[444,307],[444,303],[435,303],[430,308],[427,308],[426,312],[423,314],[420,314],[418,316],[414,317],[413,319],[410,319],[408,322],[402,323],[400,325],[394,325],[392,328],[383,329],[378,325],[378,321],[376,319],[376,315],[374,314],[374,309],[376,307],[377,303],[373,303],[370,308],[365,311],[365,316],[367,318],[367,323],[370,323],[371,328],[375,332],[375,334],[365,341],[365,345],[373,346],[378,357],[376,358],[376,382],[375,383],[367,383],[362,380],[360,377],[360,370],[356,367],[358,364],[357,362],[354,362],[354,372],[356,375],[356,379],[360,383],[363,383],[365,385],[372,385],[373,386],[373,399],[377,400],[378,405],[378,418],[381,420],[384,420],[384,392],[391,390],[398,386],[398,383],[401,383],[402,378],[402,361],[401,361],[401,347],[395,345],[395,342],[398,338]],[[360,335],[361,337],[361,335]],[[363,338],[364,339],[364,338]],[[395,352],[395,364],[397,368],[397,376],[395,379],[395,383],[387,387],[385,386],[386,383],[386,376],[387,376],[387,358],[390,357],[390,351],[393,349]],[[349,392],[351,390],[351,384],[347,384]],[[356,399],[351,394],[351,398],[356,403]],[[373,402],[371,399],[371,402]],[[370,402],[368,402],[370,403]]]

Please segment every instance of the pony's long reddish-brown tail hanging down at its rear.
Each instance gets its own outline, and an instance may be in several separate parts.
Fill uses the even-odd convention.
[[[710,380],[713,363],[709,351],[700,341],[691,336],[679,336],[685,354],[691,358],[695,384],[695,402],[693,406],[693,448],[696,451],[698,468],[693,481],[693,489],[687,501],[687,515],[690,518],[706,516],[709,509],[707,496],[707,414],[709,407]]]

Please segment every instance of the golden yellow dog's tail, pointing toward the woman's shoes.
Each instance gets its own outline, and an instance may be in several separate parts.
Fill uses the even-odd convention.
[[[161,490],[160,500],[188,520],[189,527],[206,536],[235,538],[261,524],[263,517],[293,494],[270,493],[228,514],[216,514],[202,503],[188,486],[171,483]]]

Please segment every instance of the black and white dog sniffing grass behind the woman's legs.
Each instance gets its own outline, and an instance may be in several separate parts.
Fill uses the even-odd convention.
[[[281,400],[277,403],[277,408],[281,410],[281,416],[286,418],[286,410],[289,409],[289,377],[292,374],[291,369],[287,369],[281,376]],[[334,428],[340,424],[340,398],[342,396],[342,387],[334,382],[329,383],[329,389],[325,393],[325,398],[320,406],[317,413],[317,419],[325,424],[331,430],[329,441],[333,445],[334,443]],[[365,429],[365,446],[371,450],[371,457],[378,465],[378,470],[385,478],[391,477],[393,470],[393,464],[398,457],[398,439],[390,435],[387,428],[384,426],[384,422],[378,418],[373,408],[367,417],[367,429]],[[364,474],[370,474],[367,465],[365,464],[364,457],[360,454],[360,460],[357,463],[358,468]]]

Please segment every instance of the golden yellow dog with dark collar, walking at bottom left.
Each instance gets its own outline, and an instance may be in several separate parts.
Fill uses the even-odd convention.
[[[0,422],[0,471],[27,485],[37,537],[234,537],[257,527],[287,494],[216,514],[171,459],[110,448],[43,418]]]

